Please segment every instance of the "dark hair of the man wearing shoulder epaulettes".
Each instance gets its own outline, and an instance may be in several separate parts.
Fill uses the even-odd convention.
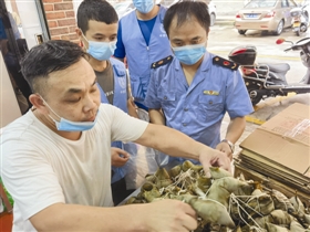
[[[208,6],[205,2],[183,0],[169,7],[164,18],[164,29],[168,36],[169,28],[175,17],[177,19],[177,27],[180,27],[184,22],[194,17],[199,24],[206,29],[206,32],[209,31],[210,14],[208,12]]]

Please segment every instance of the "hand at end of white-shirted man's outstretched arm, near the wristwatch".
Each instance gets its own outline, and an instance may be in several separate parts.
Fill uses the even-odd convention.
[[[207,177],[210,177],[210,166],[221,167],[225,170],[231,171],[229,157],[226,155],[226,152],[216,149],[211,149],[206,154],[202,154],[199,156],[199,161],[204,166],[204,170]]]

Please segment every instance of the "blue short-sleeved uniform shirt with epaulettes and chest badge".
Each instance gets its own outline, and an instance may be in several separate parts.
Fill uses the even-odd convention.
[[[213,148],[220,143],[226,113],[235,118],[252,112],[239,71],[214,64],[214,56],[206,52],[190,85],[176,57],[153,68],[145,98],[147,107],[163,109],[166,126]]]

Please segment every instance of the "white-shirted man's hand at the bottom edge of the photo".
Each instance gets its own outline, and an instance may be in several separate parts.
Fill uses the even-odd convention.
[[[144,207],[147,211],[140,213],[145,219],[145,231],[188,232],[197,228],[195,210],[182,201],[158,200]]]

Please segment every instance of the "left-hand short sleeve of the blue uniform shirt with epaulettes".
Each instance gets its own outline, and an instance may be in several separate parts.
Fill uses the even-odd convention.
[[[149,78],[149,84],[147,87],[147,93],[146,93],[146,97],[144,101],[144,104],[148,107],[148,108],[155,108],[155,109],[159,109],[162,108],[162,104],[161,101],[157,97],[157,89],[158,89],[158,81],[157,81],[157,72],[156,70],[151,70],[151,78]]]

